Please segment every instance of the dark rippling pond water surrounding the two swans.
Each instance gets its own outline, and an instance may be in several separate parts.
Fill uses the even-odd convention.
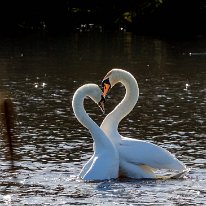
[[[206,38],[160,39],[131,33],[74,33],[0,39],[0,89],[17,112],[13,157],[0,137],[0,205],[204,205],[206,202]],[[158,144],[190,172],[178,180],[77,178],[92,155],[90,133],[75,118],[75,90],[100,85],[111,68],[139,84],[122,135]],[[123,98],[116,85],[109,113]],[[100,124],[105,115],[85,101]]]

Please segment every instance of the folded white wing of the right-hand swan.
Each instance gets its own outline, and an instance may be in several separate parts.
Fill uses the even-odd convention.
[[[185,165],[166,149],[142,140],[122,138],[119,154],[120,160],[123,159],[136,165],[178,171],[186,169]]]

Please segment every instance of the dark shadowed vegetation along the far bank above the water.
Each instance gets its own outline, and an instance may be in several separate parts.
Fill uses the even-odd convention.
[[[205,34],[205,0],[4,0],[1,33],[37,30]]]

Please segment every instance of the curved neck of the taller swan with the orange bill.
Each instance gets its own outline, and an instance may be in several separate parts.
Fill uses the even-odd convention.
[[[101,127],[108,127],[108,122],[110,122],[113,130],[117,130],[119,122],[132,111],[137,103],[139,97],[139,87],[136,79],[129,72],[121,69],[113,69],[112,72],[112,80],[114,82],[113,86],[118,82],[121,82],[126,89],[126,94],[115,109],[105,117]]]

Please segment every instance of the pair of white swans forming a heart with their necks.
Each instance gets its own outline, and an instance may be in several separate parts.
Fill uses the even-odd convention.
[[[79,177],[84,180],[104,180],[120,176],[155,179],[157,169],[185,171],[186,166],[162,147],[119,134],[118,125],[137,103],[139,88],[129,72],[112,69],[102,81],[103,96],[105,97],[118,82],[125,86],[126,94],[105,117],[100,127],[91,120],[83,106],[86,96],[103,106],[104,100],[99,87],[94,84],[84,85],[73,96],[74,113],[80,123],[89,129],[94,140],[94,154],[83,167]]]

